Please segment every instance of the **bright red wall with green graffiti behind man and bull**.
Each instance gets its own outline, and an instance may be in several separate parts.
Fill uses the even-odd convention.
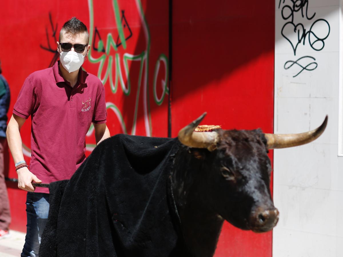
[[[26,76],[58,59],[60,27],[76,16],[90,31],[92,47],[83,67],[103,80],[111,135],[167,136],[168,85],[164,81],[169,78],[172,136],[203,111],[208,112],[204,124],[221,124],[225,129],[261,127],[271,133],[274,2],[172,2],[171,58],[168,1],[2,3],[0,59],[12,94],[9,116]],[[28,120],[21,131],[27,161],[30,128]],[[89,154],[95,144],[92,130],[86,144]],[[9,167],[7,176],[16,178],[11,157]],[[12,182],[7,185],[11,229],[24,231],[25,192]],[[216,256],[271,256],[271,237],[271,233],[240,231],[226,223]]]

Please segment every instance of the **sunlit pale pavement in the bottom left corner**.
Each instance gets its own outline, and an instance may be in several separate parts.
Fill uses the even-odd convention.
[[[10,230],[10,237],[0,240],[0,256],[1,257],[19,257],[24,243],[25,233]]]

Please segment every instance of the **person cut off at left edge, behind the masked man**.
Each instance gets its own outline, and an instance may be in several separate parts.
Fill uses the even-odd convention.
[[[10,203],[4,175],[4,150],[7,149],[7,112],[10,106],[10,88],[2,76],[0,60],[0,239],[9,236],[11,222]]]

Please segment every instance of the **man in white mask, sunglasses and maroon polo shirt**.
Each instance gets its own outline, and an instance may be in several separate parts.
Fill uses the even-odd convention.
[[[34,188],[31,183],[70,179],[86,158],[85,137],[92,122],[97,144],[110,137],[104,86],[96,76],[81,69],[90,49],[88,39],[87,28],[80,20],[73,17],[64,23],[57,42],[60,61],[26,78],[8,124],[7,137],[18,187],[29,191],[27,232],[21,256],[38,256],[49,211],[48,188]],[[20,129],[29,116],[30,168],[24,161],[20,137]]]

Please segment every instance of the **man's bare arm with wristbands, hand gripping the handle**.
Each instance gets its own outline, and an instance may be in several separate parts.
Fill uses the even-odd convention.
[[[24,160],[22,139],[20,136],[20,129],[23,126],[26,119],[13,114],[6,131],[8,146],[11,150],[14,163]],[[41,183],[42,181],[38,179],[34,174],[32,174],[27,167],[20,168],[17,170],[18,174],[18,187],[26,191],[33,192],[35,188],[32,186],[31,182]]]

